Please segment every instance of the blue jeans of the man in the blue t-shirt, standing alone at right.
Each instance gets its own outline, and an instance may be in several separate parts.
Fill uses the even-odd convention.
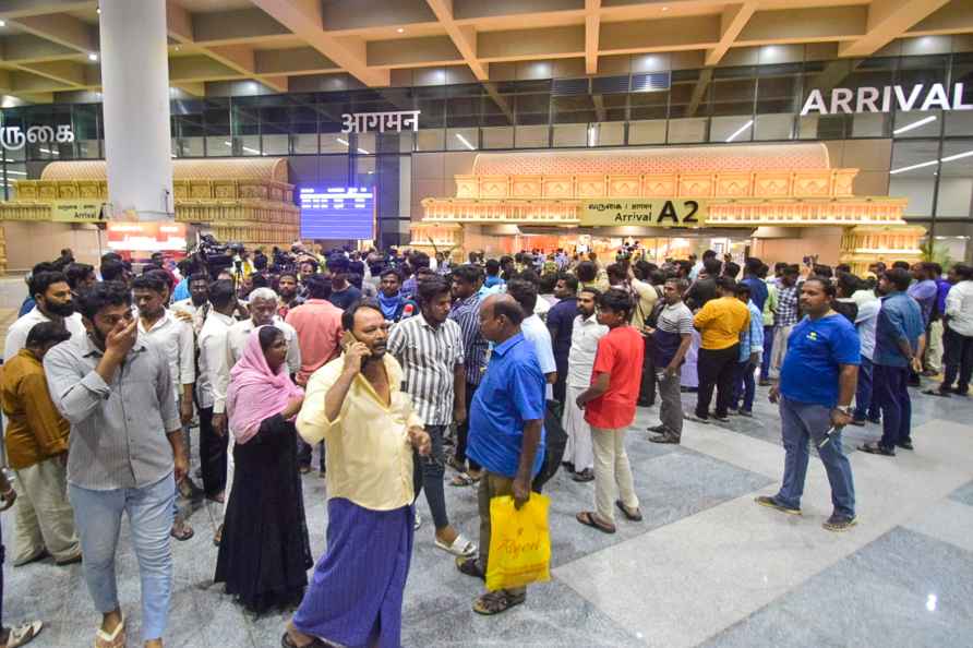
[[[804,480],[807,477],[807,442],[820,444],[831,428],[831,410],[824,405],[797,403],[784,396],[780,399],[781,436],[784,445],[784,478],[774,499],[790,508],[801,508]],[[851,463],[841,449],[841,432],[818,448],[818,455],[831,484],[831,504],[834,513],[855,516],[855,483]]]

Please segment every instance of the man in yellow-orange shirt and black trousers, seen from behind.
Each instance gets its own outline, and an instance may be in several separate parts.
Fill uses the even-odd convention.
[[[717,409],[713,419],[725,422],[726,410],[733,398],[733,374],[740,355],[740,336],[749,329],[750,313],[736,299],[736,281],[730,277],[717,279],[717,299],[706,302],[693,317],[693,325],[702,338],[697,370],[699,392],[696,411],[689,416],[700,423],[709,422],[709,403],[717,387]]]

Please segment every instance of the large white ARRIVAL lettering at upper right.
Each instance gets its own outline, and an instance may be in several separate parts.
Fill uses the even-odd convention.
[[[928,89],[926,89],[928,88]],[[926,91],[926,92],[923,92]],[[920,98],[922,97],[922,100]],[[882,88],[860,87],[855,89],[836,87],[831,91],[830,100],[819,89],[810,91],[801,115],[816,112],[834,115],[844,112],[890,112],[892,110],[973,110],[973,104],[963,101],[963,84],[956,83],[950,95],[941,83],[933,85],[913,85],[906,88],[901,85],[887,85]]]

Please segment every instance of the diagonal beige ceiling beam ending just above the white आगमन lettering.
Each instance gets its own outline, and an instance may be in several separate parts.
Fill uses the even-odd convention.
[[[362,38],[336,38],[324,31],[321,0],[251,1],[365,85],[385,86],[392,82],[389,70],[369,68]]]

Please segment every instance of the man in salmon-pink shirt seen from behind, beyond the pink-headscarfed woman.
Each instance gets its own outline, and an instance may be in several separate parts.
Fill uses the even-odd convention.
[[[338,357],[341,351],[341,309],[327,300],[331,286],[322,275],[304,279],[310,299],[287,313],[288,324],[298,332],[301,370],[296,382],[305,386],[311,374]],[[298,439],[298,468],[311,471],[311,446]],[[321,444],[321,477],[324,477],[324,444]]]

